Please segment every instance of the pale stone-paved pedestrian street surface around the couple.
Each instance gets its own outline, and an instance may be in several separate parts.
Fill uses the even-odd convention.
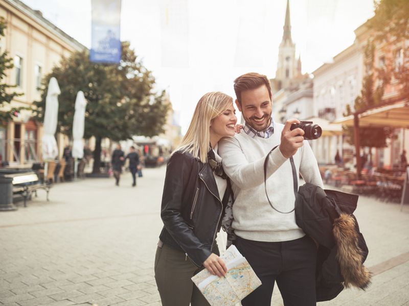
[[[55,185],[0,213],[0,305],[161,305],[153,277],[165,167]],[[318,305],[409,306],[409,207],[360,197],[356,217],[373,272],[367,291]],[[271,305],[282,305],[277,286]],[[177,306],[177,305],[175,305]],[[256,306],[256,305],[255,305]]]

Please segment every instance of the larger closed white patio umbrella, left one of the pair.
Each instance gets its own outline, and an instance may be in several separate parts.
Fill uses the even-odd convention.
[[[46,97],[46,113],[44,114],[44,135],[41,138],[42,159],[54,160],[58,156],[57,141],[54,134],[57,130],[58,95],[61,93],[56,78],[51,78]],[[47,169],[46,169],[47,170]],[[46,172],[47,175],[47,172]]]

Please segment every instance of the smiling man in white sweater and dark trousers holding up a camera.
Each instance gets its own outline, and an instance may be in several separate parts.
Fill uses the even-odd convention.
[[[245,125],[240,134],[219,143],[219,154],[235,195],[235,245],[262,282],[242,305],[269,306],[275,281],[285,305],[315,305],[316,246],[290,212],[295,196],[289,158],[306,182],[323,187],[317,162],[304,131],[290,131],[297,119],[285,125],[272,120],[271,88],[265,75],[241,75],[234,89]],[[283,213],[271,208],[264,191],[264,160],[276,146],[268,158],[266,186],[272,205]]]

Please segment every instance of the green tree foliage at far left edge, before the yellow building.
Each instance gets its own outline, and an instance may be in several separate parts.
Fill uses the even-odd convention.
[[[5,30],[7,28],[6,21],[3,17],[0,18],[0,37],[4,37]],[[4,109],[5,107],[9,106],[11,100],[19,96],[21,94],[11,91],[11,88],[15,88],[15,85],[8,85],[3,83],[4,79],[6,78],[6,71],[12,69],[13,59],[8,57],[9,54],[7,51],[0,54],[0,108]],[[13,108],[11,107],[7,112],[0,112],[0,123],[5,123],[11,120],[15,114],[24,108]]]

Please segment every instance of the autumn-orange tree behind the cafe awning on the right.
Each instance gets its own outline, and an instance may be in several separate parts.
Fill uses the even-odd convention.
[[[385,86],[392,80],[400,85],[399,96],[409,96],[409,1],[375,0],[375,15],[367,25],[371,38],[365,47],[365,77],[361,94],[355,99],[354,112],[369,109],[382,102]],[[374,65],[375,45],[378,56],[382,54],[382,64]],[[380,58],[379,58],[380,62]],[[346,115],[354,112],[347,106]],[[354,143],[352,127],[343,127]],[[360,127],[361,147],[386,147],[387,139],[393,137],[393,130],[384,127]],[[359,152],[356,152],[358,155]],[[371,156],[372,158],[372,156]]]

